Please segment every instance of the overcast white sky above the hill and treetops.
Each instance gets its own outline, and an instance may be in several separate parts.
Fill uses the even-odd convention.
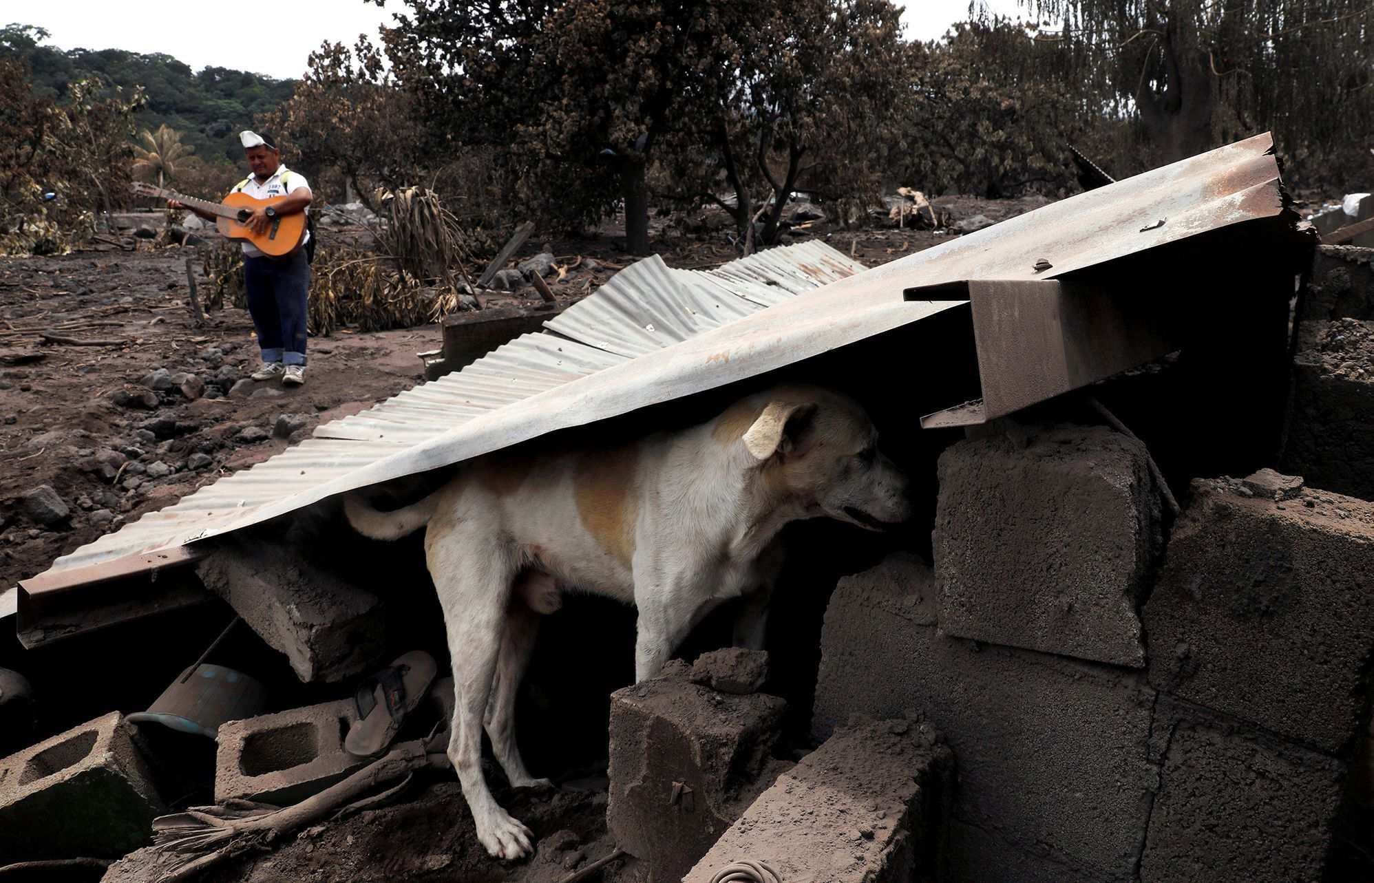
[[[404,3],[386,8],[363,0],[286,0],[275,5],[181,3],[166,7],[129,5],[110,0],[47,0],[10,4],[0,21],[38,25],[51,32],[49,45],[63,49],[129,49],[165,52],[195,70],[209,65],[236,67],[272,77],[298,77],[305,59],[322,41],[346,43],[376,33]],[[903,22],[911,38],[933,40],[969,15],[969,0],[910,0]],[[989,5],[1017,18],[1017,0]],[[256,23],[261,10],[264,25]],[[1024,12],[1021,14],[1024,16]]]

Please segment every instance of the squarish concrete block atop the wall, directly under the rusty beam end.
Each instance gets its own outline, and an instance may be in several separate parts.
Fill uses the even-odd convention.
[[[1029,426],[940,456],[934,566],[952,636],[1145,665],[1138,606],[1161,544],[1145,446]]]

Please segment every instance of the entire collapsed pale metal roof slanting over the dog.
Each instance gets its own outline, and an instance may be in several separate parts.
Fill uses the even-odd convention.
[[[725,386],[963,302],[907,301],[911,288],[1052,279],[1283,214],[1272,140],[1264,135],[852,276],[848,258],[818,243],[706,273],[642,261],[603,286],[605,297],[550,323],[563,336],[525,335],[458,375],[322,427],[290,452],[77,549],[23,586],[45,590],[55,582],[49,574],[77,580],[69,571],[136,549],[238,530],[338,493]],[[1050,269],[1037,271],[1037,262]],[[636,277],[650,280],[655,295],[636,293],[629,284]],[[837,280],[783,299],[774,294],[827,277]],[[765,302],[775,305],[763,309]]]

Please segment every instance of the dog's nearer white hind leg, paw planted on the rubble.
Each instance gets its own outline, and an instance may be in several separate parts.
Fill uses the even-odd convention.
[[[473,522],[437,534],[431,530],[426,545],[453,656],[448,757],[473,810],[477,839],[497,858],[519,858],[533,850],[533,835],[496,802],[482,777],[482,717],[496,677],[515,555]]]

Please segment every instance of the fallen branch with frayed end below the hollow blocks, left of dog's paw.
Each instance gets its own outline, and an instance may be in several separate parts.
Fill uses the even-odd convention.
[[[278,809],[267,803],[231,801],[223,806],[191,807],[154,818],[154,849],[185,856],[158,878],[158,883],[177,883],[221,861],[265,850],[287,834],[357,801],[376,785],[425,766],[448,766],[448,757],[430,753],[423,740],[407,742],[295,806]]]

